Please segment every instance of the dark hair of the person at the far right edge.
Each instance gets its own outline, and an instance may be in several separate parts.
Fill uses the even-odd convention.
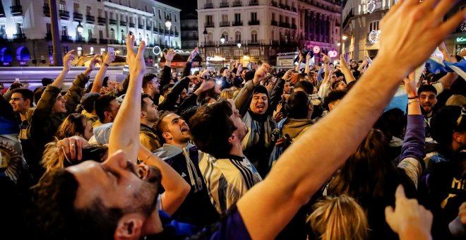
[[[466,116],[462,116],[460,123],[458,119],[462,114],[459,106],[446,106],[441,108],[431,120],[432,138],[441,145],[450,145],[454,132],[466,131]]]

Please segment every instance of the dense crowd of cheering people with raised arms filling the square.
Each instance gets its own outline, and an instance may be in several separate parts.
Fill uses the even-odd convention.
[[[465,79],[419,68],[465,61],[454,2],[399,1],[374,60],[157,76],[128,35],[122,83],[109,53],[64,90],[68,52],[0,95],[1,239],[465,239]]]

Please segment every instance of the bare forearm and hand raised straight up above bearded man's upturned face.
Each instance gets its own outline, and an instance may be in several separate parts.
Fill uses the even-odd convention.
[[[139,126],[141,125],[141,119],[136,116],[141,116],[145,42],[141,41],[136,53],[133,48],[134,35],[128,35],[126,39],[129,87],[110,132],[109,155],[117,150],[124,150],[126,159],[136,162],[139,150]]]

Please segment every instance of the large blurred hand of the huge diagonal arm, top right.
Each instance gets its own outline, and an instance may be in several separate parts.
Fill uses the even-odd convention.
[[[394,80],[406,76],[428,59],[446,35],[465,19],[466,9],[443,21],[453,6],[455,0],[426,0],[420,4],[418,0],[405,0],[383,17],[377,59],[390,63]]]

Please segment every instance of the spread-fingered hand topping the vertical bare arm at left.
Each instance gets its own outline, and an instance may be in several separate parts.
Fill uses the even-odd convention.
[[[126,63],[129,66],[130,76],[131,74],[143,75],[145,73],[145,61],[144,61],[144,50],[145,50],[145,42],[141,41],[139,44],[138,52],[134,50],[134,42],[136,41],[136,37],[134,35],[127,35],[126,36],[126,49],[127,49],[127,56],[126,56]]]

